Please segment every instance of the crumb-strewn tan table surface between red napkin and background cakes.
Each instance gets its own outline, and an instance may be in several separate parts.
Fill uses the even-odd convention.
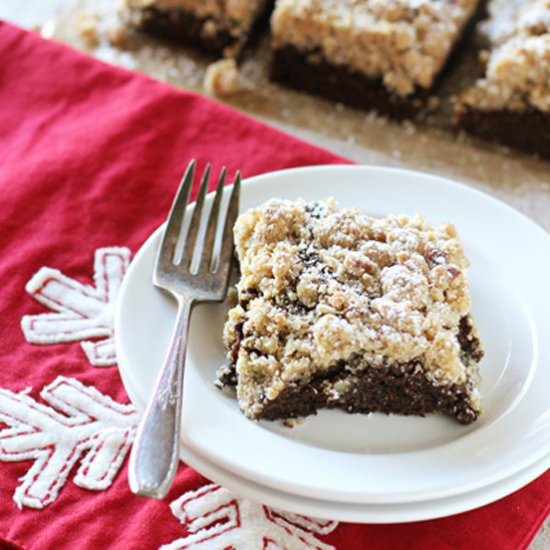
[[[41,27],[42,34],[90,50],[77,27],[99,15],[105,61],[141,70],[178,86],[201,90],[208,60],[130,36],[125,50],[109,45],[115,0],[0,0],[0,18]],[[116,33],[115,33],[116,34]],[[364,164],[404,166],[449,176],[496,196],[550,230],[550,162],[510,153],[465,136],[410,123],[394,124],[342,105],[284,90],[267,80],[268,44],[242,68],[244,90],[225,101],[295,136]],[[550,519],[531,550],[550,548]]]

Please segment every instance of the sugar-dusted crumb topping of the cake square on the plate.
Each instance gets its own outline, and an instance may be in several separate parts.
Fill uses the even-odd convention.
[[[376,219],[333,199],[271,200],[234,231],[241,278],[224,342],[249,416],[342,362],[419,361],[434,383],[470,380],[458,340],[468,261],[452,225]]]

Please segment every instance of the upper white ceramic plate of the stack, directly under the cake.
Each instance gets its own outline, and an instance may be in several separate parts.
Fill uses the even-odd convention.
[[[227,195],[227,193],[226,193]],[[248,180],[242,209],[272,197],[335,196],[372,215],[452,221],[471,260],[474,316],[485,343],[485,414],[463,427],[427,418],[324,411],[288,429],[247,420],[213,386],[225,361],[223,306],[194,311],[182,441],[217,467],[322,501],[404,503],[465,494],[512,476],[550,451],[550,238],[491,197],[427,174],[365,166],[288,170]],[[175,316],[151,284],[160,232],[136,255],[115,322],[122,378],[138,407],[149,397]],[[135,388],[135,389],[132,389]]]

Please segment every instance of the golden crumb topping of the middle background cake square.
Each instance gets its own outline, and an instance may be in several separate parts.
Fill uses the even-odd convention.
[[[278,0],[275,48],[291,45],[400,96],[429,89],[478,0]]]

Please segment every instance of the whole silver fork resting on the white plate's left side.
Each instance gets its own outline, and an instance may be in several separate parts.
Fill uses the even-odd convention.
[[[164,366],[138,428],[130,455],[130,489],[138,495],[153,498],[163,498],[166,495],[178,466],[183,373],[191,310],[198,302],[221,302],[227,294],[233,258],[233,225],[239,212],[241,178],[237,172],[225,215],[220,252],[215,258],[214,245],[225,184],[224,168],[210,210],[200,263],[195,270],[192,264],[210,177],[208,165],[202,176],[181,259],[178,259],[176,252],[194,172],[195,162],[192,161],[172,204],[157,255],[153,282],[172,294],[178,303],[178,313]]]

